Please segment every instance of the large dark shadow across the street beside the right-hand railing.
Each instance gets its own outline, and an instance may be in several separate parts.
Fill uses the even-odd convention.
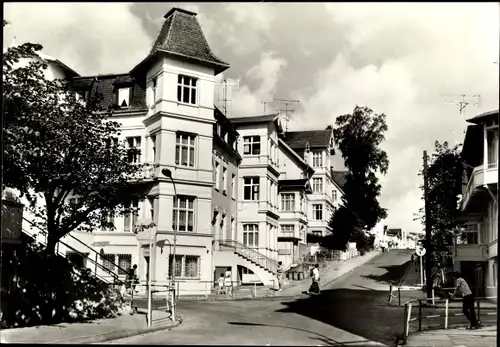
[[[333,289],[321,293],[282,302],[286,307],[278,312],[300,314],[388,345],[394,345],[396,336],[403,332],[404,309],[386,307],[386,292]]]

